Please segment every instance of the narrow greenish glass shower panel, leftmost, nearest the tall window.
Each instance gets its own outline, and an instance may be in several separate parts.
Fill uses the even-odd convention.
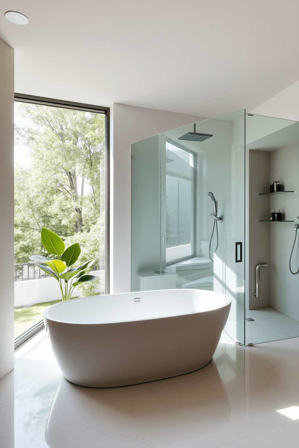
[[[160,134],[132,145],[131,291],[160,289]]]

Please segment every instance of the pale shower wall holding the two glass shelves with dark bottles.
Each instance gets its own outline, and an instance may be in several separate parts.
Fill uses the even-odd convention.
[[[284,190],[295,191],[271,196],[271,210],[280,208],[283,220],[295,220],[271,224],[271,307],[299,320],[299,274],[289,271],[293,228],[299,222],[299,143],[271,152],[271,179],[281,181]],[[293,272],[299,269],[298,235],[291,267]]]

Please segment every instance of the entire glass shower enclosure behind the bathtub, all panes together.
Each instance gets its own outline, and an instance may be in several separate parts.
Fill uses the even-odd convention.
[[[227,294],[232,342],[298,337],[298,173],[299,122],[244,110],[134,143],[131,290]]]

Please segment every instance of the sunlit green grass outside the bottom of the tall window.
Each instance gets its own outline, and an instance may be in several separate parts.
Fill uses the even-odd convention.
[[[98,295],[100,295],[100,293],[95,293],[95,296]],[[72,297],[72,299],[78,299],[78,297]],[[48,308],[48,306],[55,305],[55,303],[59,302],[61,302],[61,300],[35,303],[35,305],[32,305],[29,308],[16,308],[14,310],[14,337],[16,338],[17,336],[20,336],[30,327],[33,327],[33,325],[43,320],[43,310]]]

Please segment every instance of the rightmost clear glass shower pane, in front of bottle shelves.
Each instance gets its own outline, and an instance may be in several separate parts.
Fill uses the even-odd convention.
[[[299,122],[246,116],[246,344],[299,336],[298,279],[289,260],[299,222]],[[277,191],[270,185],[278,181]],[[273,185],[274,186],[274,185]],[[270,213],[280,210],[281,220]],[[299,268],[298,239],[291,259]],[[257,288],[258,287],[258,288]]]

